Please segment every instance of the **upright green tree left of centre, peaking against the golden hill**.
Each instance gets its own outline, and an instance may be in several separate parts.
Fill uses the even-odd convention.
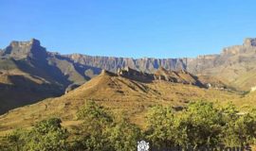
[[[83,120],[79,136],[73,143],[76,150],[110,150],[107,129],[113,125],[113,117],[103,107],[93,101],[87,101],[78,111]]]

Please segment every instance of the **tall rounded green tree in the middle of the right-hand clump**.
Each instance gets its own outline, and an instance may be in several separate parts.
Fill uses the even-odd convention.
[[[180,113],[177,121],[176,131],[185,132],[186,136],[177,139],[179,144],[197,147],[220,143],[222,113],[215,109],[212,103],[204,101],[191,103],[188,109]]]

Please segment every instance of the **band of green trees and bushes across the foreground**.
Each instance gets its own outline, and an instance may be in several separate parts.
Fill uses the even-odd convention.
[[[147,114],[147,128],[131,124],[95,102],[87,102],[77,113],[80,126],[66,130],[59,118],[37,123],[31,129],[17,129],[4,137],[0,150],[137,150],[145,140],[151,148],[174,146],[247,146],[256,138],[256,109],[239,112],[234,105],[220,107],[210,102],[190,103],[175,111],[154,106]]]

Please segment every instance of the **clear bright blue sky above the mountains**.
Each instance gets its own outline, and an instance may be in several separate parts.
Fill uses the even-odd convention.
[[[1,0],[0,48],[36,38],[62,54],[216,54],[256,37],[255,7],[255,0]]]

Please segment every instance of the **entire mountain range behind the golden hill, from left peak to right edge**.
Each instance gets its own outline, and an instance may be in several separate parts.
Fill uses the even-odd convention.
[[[246,39],[243,45],[224,48],[219,55],[195,59],[60,55],[46,51],[38,40],[32,39],[10,42],[0,51],[0,57],[0,113],[62,95],[99,75],[101,69],[118,74],[119,68],[129,67],[130,71],[141,71],[142,75],[126,77],[140,81],[140,77],[144,80],[143,76],[157,76],[166,81],[200,87],[211,83],[218,87],[229,85],[240,91],[249,91],[256,86],[256,39]]]

